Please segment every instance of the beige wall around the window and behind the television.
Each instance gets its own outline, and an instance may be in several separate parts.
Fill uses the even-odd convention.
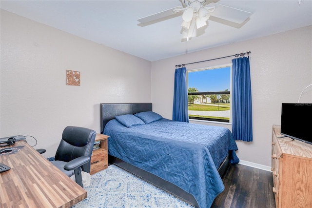
[[[250,68],[254,141],[250,143],[237,141],[239,149],[237,154],[240,160],[271,166],[272,125],[280,125],[281,103],[296,103],[301,91],[312,83],[311,26],[152,62],[153,109],[172,119],[176,64],[209,60],[247,51],[252,52]],[[186,67],[193,69],[222,65],[231,63],[232,59],[202,62]],[[300,102],[312,103],[312,87],[305,90]],[[232,130],[231,125],[224,126]]]

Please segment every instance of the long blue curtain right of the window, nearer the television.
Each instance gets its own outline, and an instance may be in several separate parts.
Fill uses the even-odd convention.
[[[232,60],[232,133],[235,140],[253,141],[249,57]]]

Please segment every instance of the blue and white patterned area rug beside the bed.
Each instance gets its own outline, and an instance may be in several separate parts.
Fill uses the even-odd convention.
[[[91,175],[84,189],[88,197],[72,208],[194,208],[115,165]]]

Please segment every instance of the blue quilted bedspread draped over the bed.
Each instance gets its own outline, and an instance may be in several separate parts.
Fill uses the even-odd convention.
[[[125,127],[111,120],[108,153],[151,172],[192,194],[200,208],[211,207],[224,190],[217,171],[230,150],[238,163],[237,146],[224,127],[161,119],[146,125]]]

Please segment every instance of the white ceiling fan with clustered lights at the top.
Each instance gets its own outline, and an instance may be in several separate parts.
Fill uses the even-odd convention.
[[[252,14],[251,12],[216,3],[219,0],[179,1],[181,1],[182,6],[139,18],[137,19],[140,22],[138,25],[147,26],[182,15],[182,41],[189,41],[191,38],[199,36],[204,32],[208,20],[241,28],[250,20]]]

